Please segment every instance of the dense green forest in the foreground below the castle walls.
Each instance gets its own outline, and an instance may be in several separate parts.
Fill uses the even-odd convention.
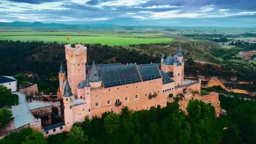
[[[225,91],[220,87],[215,89]],[[69,133],[51,135],[46,141],[48,144],[255,144],[256,101],[240,100],[239,94],[235,98],[221,94],[219,99],[221,107],[227,110],[227,115],[220,118],[215,117],[211,105],[198,100],[189,101],[188,115],[185,115],[176,99],[163,108],[133,111],[124,107],[121,115],[108,112],[92,120],[85,117],[85,121],[75,123]],[[27,128],[21,133],[11,133],[0,143],[19,144],[32,140],[46,143],[42,135]]]

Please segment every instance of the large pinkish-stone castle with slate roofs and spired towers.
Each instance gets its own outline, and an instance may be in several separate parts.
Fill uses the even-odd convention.
[[[87,48],[65,45],[67,78],[59,69],[58,99],[63,99],[65,131],[73,123],[100,117],[104,112],[121,114],[123,107],[133,110],[166,107],[170,93],[184,89],[200,92],[200,79],[184,78],[184,59],[179,47],[176,55],[162,56],[158,64],[100,64],[86,66]]]

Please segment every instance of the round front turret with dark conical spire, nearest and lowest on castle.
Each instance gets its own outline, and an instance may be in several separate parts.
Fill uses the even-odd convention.
[[[74,95],[72,94],[69,81],[67,81],[63,94],[65,131],[69,131],[73,125],[73,100]]]

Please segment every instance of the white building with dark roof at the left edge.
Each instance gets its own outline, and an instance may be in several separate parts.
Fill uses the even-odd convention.
[[[0,85],[5,85],[11,92],[17,91],[17,80],[11,76],[0,76]]]

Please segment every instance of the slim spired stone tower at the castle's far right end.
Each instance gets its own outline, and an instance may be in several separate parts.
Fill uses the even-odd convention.
[[[176,81],[175,86],[178,85],[183,85],[183,81],[184,81],[184,59],[183,59],[183,55],[182,55],[182,51],[181,51],[181,46],[179,46],[179,49],[176,53],[176,55],[174,55],[174,57],[176,59],[179,60],[179,62],[181,63],[180,66],[175,66],[175,69],[173,69],[173,75],[174,75],[174,79]]]

